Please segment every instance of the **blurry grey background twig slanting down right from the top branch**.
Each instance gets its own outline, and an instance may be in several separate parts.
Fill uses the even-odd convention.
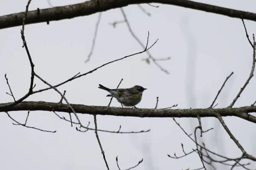
[[[123,17],[124,17],[124,19],[125,19],[125,23],[126,23],[126,25],[127,25],[127,27],[128,27],[129,32],[131,33],[132,37],[134,37],[134,39],[140,44],[140,46],[141,46],[142,48],[145,48],[144,45],[143,45],[143,43],[140,41],[140,39],[134,34],[133,30],[131,29],[131,25],[130,25],[130,23],[129,23],[127,17],[126,17],[125,11],[123,10],[123,8],[120,8],[120,9],[121,9],[122,15],[123,15]],[[166,69],[162,68],[162,66],[159,65],[159,64],[157,63],[157,61],[154,59],[154,57],[151,56],[151,54],[149,53],[149,51],[146,51],[146,53],[148,54],[148,57],[152,59],[152,61],[154,62],[154,64],[157,65],[158,68],[160,68],[161,71],[165,72],[166,74],[169,74],[169,71],[167,71]]]

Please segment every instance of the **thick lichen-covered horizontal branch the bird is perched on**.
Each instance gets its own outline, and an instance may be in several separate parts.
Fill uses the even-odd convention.
[[[0,112],[6,111],[58,111],[72,112],[67,104],[52,102],[21,102],[11,108],[6,108],[10,103],[0,104]],[[236,116],[250,122],[256,123],[256,117],[248,113],[256,112],[256,106],[245,106],[241,108],[205,108],[205,109],[133,109],[115,108],[107,106],[87,106],[70,104],[76,113],[111,115],[111,116],[132,116],[132,117],[217,117]]]

